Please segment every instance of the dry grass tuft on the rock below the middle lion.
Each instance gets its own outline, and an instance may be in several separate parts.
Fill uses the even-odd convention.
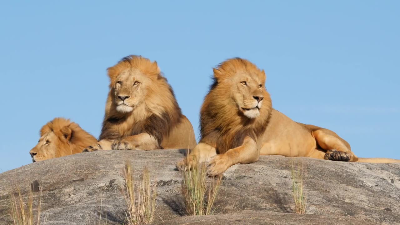
[[[156,210],[156,185],[150,185],[150,173],[144,167],[141,182],[135,182],[133,169],[129,162],[124,168],[126,187],[123,190],[128,212],[126,223],[128,225],[148,224],[153,220]]]

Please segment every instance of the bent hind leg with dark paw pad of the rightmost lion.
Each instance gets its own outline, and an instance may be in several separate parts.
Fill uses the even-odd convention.
[[[326,151],[324,159],[333,161],[356,162],[358,157],[350,150],[350,145],[336,133],[328,129],[312,131],[317,144]]]

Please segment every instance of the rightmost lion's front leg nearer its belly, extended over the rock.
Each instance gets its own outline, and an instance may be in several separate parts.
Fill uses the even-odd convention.
[[[224,154],[218,154],[212,157],[207,166],[207,174],[216,176],[224,173],[229,167],[237,164],[248,164],[258,161],[260,150],[257,147],[256,141],[246,136],[243,145],[229,149]]]

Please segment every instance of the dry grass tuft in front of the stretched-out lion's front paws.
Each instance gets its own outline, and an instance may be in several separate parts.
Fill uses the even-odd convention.
[[[207,182],[205,163],[196,163],[192,170],[182,172],[182,195],[188,215],[211,215],[218,190],[222,185],[222,175],[212,177]]]

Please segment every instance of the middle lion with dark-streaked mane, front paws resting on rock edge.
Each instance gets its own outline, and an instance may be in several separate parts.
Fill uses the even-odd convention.
[[[97,150],[193,149],[196,138],[157,62],[127,56],[108,68],[110,92]]]

